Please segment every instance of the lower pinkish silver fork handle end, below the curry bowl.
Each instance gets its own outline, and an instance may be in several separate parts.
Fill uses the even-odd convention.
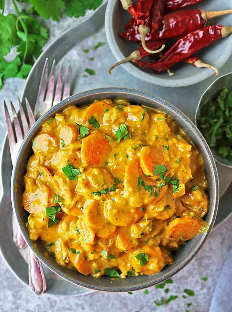
[[[30,248],[28,248],[28,250],[29,250],[29,259],[28,259],[29,285],[37,295],[42,295],[47,289],[47,283],[42,263],[33,254]]]

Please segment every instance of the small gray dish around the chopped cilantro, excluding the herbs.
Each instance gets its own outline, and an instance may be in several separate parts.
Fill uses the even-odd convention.
[[[202,103],[204,103],[206,100],[213,99],[215,95],[224,88],[228,88],[229,91],[232,91],[232,73],[221,76],[220,78],[215,80],[201,96],[195,115],[195,124],[197,127]],[[218,163],[227,166],[229,168],[232,168],[232,160],[227,160],[223,158],[214,148],[212,148],[211,151],[214,155],[215,160]]]

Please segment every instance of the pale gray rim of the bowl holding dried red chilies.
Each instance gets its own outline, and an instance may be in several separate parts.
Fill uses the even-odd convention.
[[[113,31],[113,12],[115,10],[116,5],[118,4],[119,0],[108,0],[107,7],[106,7],[106,14],[105,14],[105,31],[106,31],[106,39],[110,46],[111,52],[113,53],[114,57],[116,58],[117,62],[123,60],[126,56],[124,56],[116,42],[115,34]],[[223,59],[220,59],[220,63],[217,64],[217,69],[220,70],[225,63],[231,57],[231,52],[228,49],[228,52],[225,53]],[[226,56],[226,57],[225,57]],[[213,76],[215,73],[214,71],[210,70],[210,68],[204,68],[199,71],[199,73],[195,74],[191,77],[175,79],[172,77],[169,78],[161,78],[156,74],[152,74],[146,72],[139,68],[138,66],[134,65],[132,62],[126,62],[122,65],[126,71],[128,71],[134,77],[143,80],[145,82],[152,83],[154,85],[159,85],[161,87],[186,87],[190,85],[195,85],[199,82],[206,80],[207,78]]]

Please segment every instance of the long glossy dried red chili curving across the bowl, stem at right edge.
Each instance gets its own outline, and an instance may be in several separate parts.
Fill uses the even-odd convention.
[[[184,61],[195,52],[230,33],[232,33],[232,27],[220,25],[204,27],[180,38],[158,62],[135,60],[133,62],[143,68],[152,69],[154,72],[166,71],[176,63]]]

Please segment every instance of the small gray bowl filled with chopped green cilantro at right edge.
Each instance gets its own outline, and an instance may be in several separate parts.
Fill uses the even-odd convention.
[[[232,73],[215,80],[202,95],[195,123],[215,160],[232,168]]]

